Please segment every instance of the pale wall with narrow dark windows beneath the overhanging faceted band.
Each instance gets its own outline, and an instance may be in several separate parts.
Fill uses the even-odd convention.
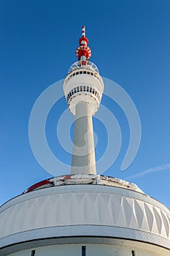
[[[83,244],[85,246],[86,255],[88,256],[110,256],[110,255],[118,255],[118,256],[131,256],[132,250],[136,252],[136,256],[155,256],[155,255],[169,255],[165,249],[160,249],[158,251],[155,248],[147,249],[144,248],[136,248],[135,246],[124,246],[123,245],[109,245],[109,244]],[[156,252],[156,254],[155,254]],[[162,253],[162,254],[161,254]],[[31,249],[26,249],[21,252],[15,252],[10,254],[10,256],[30,256]],[[74,255],[80,256],[82,255],[82,244],[60,244],[53,246],[43,246],[35,249],[35,256],[54,256],[54,255]]]

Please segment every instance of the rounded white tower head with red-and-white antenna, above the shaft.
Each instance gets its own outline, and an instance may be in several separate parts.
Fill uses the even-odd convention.
[[[104,91],[104,82],[98,68],[89,61],[91,50],[88,38],[85,37],[85,26],[82,26],[82,37],[76,50],[78,61],[69,68],[63,83],[63,91],[69,110],[75,115],[75,107],[79,102],[88,102],[92,116],[97,112]]]

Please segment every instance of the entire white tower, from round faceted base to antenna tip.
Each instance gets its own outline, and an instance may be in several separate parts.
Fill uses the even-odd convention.
[[[92,116],[104,84],[90,54],[83,27],[63,83],[76,119],[72,174],[0,207],[0,256],[170,256],[169,209],[135,184],[95,174]]]

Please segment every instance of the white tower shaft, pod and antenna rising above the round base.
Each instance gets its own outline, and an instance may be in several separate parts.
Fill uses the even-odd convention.
[[[89,61],[91,50],[82,26],[78,61],[72,64],[63,83],[63,91],[70,112],[75,116],[72,174],[96,174],[92,116],[97,112],[104,83],[98,68]]]

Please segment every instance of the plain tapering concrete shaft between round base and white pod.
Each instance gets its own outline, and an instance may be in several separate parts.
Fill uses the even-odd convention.
[[[91,105],[79,102],[75,108],[72,174],[96,174]]]

